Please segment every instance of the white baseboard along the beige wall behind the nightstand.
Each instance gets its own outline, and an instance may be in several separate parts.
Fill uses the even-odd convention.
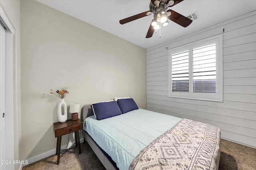
[[[84,137],[80,138],[80,143],[83,143],[83,142],[84,142]],[[63,146],[60,147],[60,149],[62,150],[62,149],[70,148],[74,143],[75,143],[75,141],[72,142],[72,143],[68,143],[68,145],[63,145]],[[41,160],[41,159],[43,159],[43,158],[46,158],[46,157],[48,157],[48,156],[51,156],[51,155],[53,155],[53,154],[56,154],[56,149],[52,149],[52,150],[49,150],[49,151],[44,152],[44,153],[42,153],[42,154],[39,154],[39,155],[37,155],[37,156],[34,156],[34,157],[32,157],[32,158],[29,158],[29,159],[27,159],[28,165],[29,165],[29,164],[32,164],[32,163],[34,163],[34,162],[36,162],[36,161],[38,161],[38,160]],[[24,166],[25,166],[25,165],[24,165]],[[20,164],[19,170],[22,170],[22,167],[23,167],[23,165]]]

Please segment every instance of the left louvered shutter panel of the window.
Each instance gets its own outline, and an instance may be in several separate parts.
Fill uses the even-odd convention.
[[[172,92],[189,92],[188,50],[172,54]]]

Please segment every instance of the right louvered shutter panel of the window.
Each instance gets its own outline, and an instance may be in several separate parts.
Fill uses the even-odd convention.
[[[193,49],[193,92],[216,94],[216,43]]]

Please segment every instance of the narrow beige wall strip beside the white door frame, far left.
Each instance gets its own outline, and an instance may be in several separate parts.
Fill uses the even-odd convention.
[[[13,35],[13,90],[14,90],[14,159],[20,160],[19,145],[21,140],[21,115],[20,115],[20,1],[0,0],[0,6],[8,17]],[[18,169],[19,165],[15,165]]]

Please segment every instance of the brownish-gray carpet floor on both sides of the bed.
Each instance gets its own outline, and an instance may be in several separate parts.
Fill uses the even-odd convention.
[[[256,149],[221,139],[219,170],[256,170]],[[105,170],[88,143],[81,143],[82,154],[77,149],[68,151],[56,165],[52,155],[24,166],[22,170]]]

